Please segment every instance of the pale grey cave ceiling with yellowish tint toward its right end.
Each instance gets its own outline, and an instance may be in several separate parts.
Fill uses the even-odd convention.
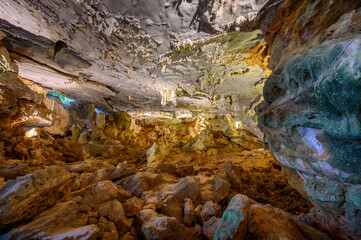
[[[1,2],[24,79],[105,109],[245,113],[269,75],[262,27],[282,1]]]

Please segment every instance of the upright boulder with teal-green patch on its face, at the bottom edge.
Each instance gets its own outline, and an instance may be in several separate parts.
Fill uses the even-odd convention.
[[[235,195],[223,213],[214,239],[245,239],[248,212],[252,204],[256,204],[256,202],[247,196]]]

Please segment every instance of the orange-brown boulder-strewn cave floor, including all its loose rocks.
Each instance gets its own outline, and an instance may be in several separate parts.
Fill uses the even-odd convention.
[[[312,205],[270,151],[229,116],[68,111],[63,135],[57,125],[1,132],[0,239],[329,239],[305,223]]]

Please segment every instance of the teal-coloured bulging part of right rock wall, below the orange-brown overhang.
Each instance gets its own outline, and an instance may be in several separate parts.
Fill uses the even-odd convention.
[[[264,99],[258,126],[275,158],[302,177],[324,223],[361,238],[361,35],[290,58]]]

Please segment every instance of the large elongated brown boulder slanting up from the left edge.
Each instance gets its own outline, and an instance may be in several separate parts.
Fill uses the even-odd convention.
[[[28,220],[68,196],[74,176],[59,166],[9,180],[0,190],[0,227]]]

